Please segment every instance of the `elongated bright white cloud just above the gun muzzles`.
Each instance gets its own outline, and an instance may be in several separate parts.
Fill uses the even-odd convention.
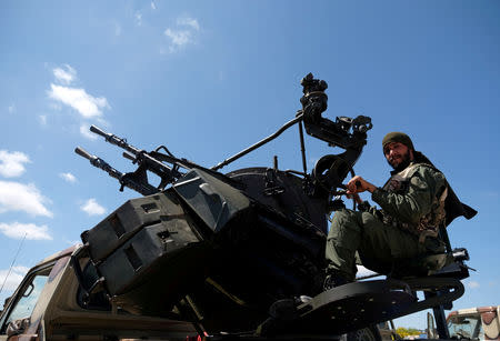
[[[84,89],[68,88],[50,84],[49,97],[70,106],[83,118],[98,118],[102,116],[102,109],[110,108],[103,97],[96,98],[88,94]]]

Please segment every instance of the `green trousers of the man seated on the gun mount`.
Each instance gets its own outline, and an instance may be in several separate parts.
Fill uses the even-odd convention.
[[[380,273],[391,271],[394,262],[411,260],[442,250],[436,239],[419,243],[417,235],[383,224],[370,212],[342,209],[336,212],[327,239],[327,270],[340,272],[348,280],[356,278],[357,252],[360,262]]]

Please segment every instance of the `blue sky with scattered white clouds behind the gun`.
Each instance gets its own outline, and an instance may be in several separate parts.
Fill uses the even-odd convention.
[[[90,124],[211,167],[292,119],[312,72],[329,84],[326,117],[372,118],[357,173],[381,185],[381,139],[404,131],[479,211],[450,225],[478,270],[454,308],[500,304],[498,18],[498,1],[2,1],[2,283],[21,250],[0,301],[28,268],[138,197],[74,154],[81,146],[133,169]],[[307,137],[309,169],[332,152]],[[301,169],[297,129],[222,171],[273,154]],[[424,317],[397,324],[423,328]]]

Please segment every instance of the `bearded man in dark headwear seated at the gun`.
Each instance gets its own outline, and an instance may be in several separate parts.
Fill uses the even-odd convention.
[[[444,175],[414,150],[406,133],[388,133],[382,147],[393,168],[386,184],[378,188],[359,175],[347,183],[348,195],[359,200],[358,193],[369,191],[381,209],[334,213],[327,239],[324,289],[356,279],[357,251],[366,268],[382,273],[391,272],[400,261],[442,253],[446,244],[439,228],[458,215],[470,219],[476,214],[458,201]]]

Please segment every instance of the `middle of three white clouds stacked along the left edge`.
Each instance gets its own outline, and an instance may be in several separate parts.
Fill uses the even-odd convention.
[[[0,181],[0,213],[24,211],[30,215],[52,217],[44,203],[50,202],[34,184]]]

